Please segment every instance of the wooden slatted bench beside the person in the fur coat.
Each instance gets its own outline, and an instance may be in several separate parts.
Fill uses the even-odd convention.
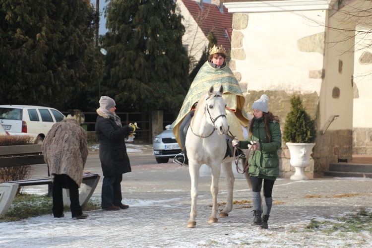
[[[0,146],[0,167],[46,164],[41,144]],[[46,167],[48,172],[48,167]],[[95,173],[83,173],[83,182],[79,188],[79,201],[83,206],[96,189],[100,176]],[[52,185],[50,177],[27,179],[0,183],[0,215],[4,215],[21,186]],[[68,190],[63,189],[63,203],[69,205]]]

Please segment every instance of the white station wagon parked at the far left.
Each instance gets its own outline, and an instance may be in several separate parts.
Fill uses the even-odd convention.
[[[10,134],[27,133],[43,142],[53,124],[64,115],[53,108],[29,105],[0,105],[0,124]]]

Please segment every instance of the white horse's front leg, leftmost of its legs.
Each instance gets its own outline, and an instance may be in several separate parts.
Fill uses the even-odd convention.
[[[189,160],[189,162],[191,162]],[[187,227],[195,227],[196,226],[196,202],[197,202],[197,195],[198,195],[198,185],[199,185],[199,170],[200,165],[195,165],[193,162],[189,163],[188,165],[188,172],[190,173],[191,178],[191,211],[190,211],[190,218],[187,221]]]

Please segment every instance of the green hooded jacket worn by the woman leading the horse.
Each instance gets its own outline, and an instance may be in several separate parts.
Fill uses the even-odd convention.
[[[250,141],[260,143],[260,149],[250,152],[248,158],[249,175],[258,177],[278,177],[279,176],[279,157],[277,150],[282,146],[282,133],[280,125],[276,121],[269,122],[269,132],[271,133],[271,142],[266,136],[265,124],[262,120],[253,123],[252,137],[248,136],[247,141],[241,141],[239,148],[248,149]]]

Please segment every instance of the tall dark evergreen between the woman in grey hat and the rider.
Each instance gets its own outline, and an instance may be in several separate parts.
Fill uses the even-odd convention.
[[[143,113],[180,110],[188,90],[185,28],[174,0],[111,0],[104,94]]]

